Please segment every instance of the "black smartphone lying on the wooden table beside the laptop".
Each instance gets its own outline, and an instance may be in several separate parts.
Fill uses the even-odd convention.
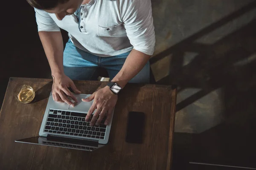
[[[131,111],[128,113],[128,123],[125,141],[128,143],[143,143],[145,114]]]

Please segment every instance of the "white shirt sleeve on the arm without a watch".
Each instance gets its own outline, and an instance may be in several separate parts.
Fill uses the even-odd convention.
[[[35,18],[38,31],[60,31],[60,28],[46,11],[35,8]]]

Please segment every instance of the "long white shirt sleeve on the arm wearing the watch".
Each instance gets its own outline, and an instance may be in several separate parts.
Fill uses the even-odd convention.
[[[120,13],[126,34],[134,49],[152,55],[155,33],[151,0],[120,0]]]

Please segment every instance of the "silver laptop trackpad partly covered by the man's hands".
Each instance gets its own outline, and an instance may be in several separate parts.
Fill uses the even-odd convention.
[[[90,94],[89,95],[87,95],[87,94],[74,94],[74,96],[76,97],[78,102],[75,104],[74,107],[69,106],[68,109],[72,110],[72,111],[88,112],[89,109],[90,109],[90,106],[93,104],[93,101],[83,102],[82,99],[85,99],[85,98],[89,97]]]

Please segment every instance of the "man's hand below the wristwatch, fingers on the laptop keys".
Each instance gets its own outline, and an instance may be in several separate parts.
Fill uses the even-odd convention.
[[[82,99],[82,101],[90,102],[93,99],[93,105],[91,105],[87,113],[87,116],[85,117],[85,121],[88,122],[91,114],[95,111],[95,109],[97,109],[96,112],[93,114],[90,126],[94,126],[95,123],[96,125],[99,125],[105,116],[107,116],[107,119],[104,124],[108,125],[113,114],[113,109],[117,102],[117,95],[113,94],[109,87],[106,86],[105,88],[102,88],[99,91],[94,92],[88,98]],[[98,120],[96,122],[97,118]]]

